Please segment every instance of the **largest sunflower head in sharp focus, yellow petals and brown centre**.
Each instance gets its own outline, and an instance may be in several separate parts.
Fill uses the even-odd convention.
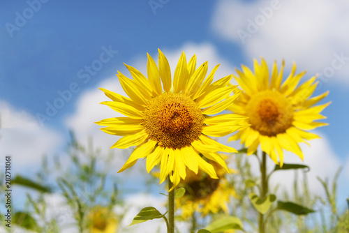
[[[103,102],[124,114],[96,122],[105,133],[121,137],[111,148],[126,149],[137,146],[119,172],[146,158],[147,172],[160,164],[160,183],[170,176],[173,187],[186,179],[186,167],[195,174],[202,170],[218,179],[214,160],[228,171],[217,151],[236,152],[235,149],[212,140],[235,132],[245,126],[246,117],[221,114],[239,96],[237,86],[228,85],[232,75],[213,81],[219,65],[207,74],[207,61],[195,69],[196,56],[188,63],[181,54],[172,82],[168,59],[159,51],[158,66],[148,54],[147,76],[132,66],[126,66],[133,80],[118,71],[120,84],[129,98],[101,89],[112,101]],[[161,87],[162,83],[162,87]]]

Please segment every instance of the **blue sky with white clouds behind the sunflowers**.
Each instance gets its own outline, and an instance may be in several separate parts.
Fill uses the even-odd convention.
[[[344,0],[1,1],[1,154],[17,156],[18,163],[25,158],[21,167],[34,170],[29,158],[60,151],[69,128],[81,140],[90,134],[108,148],[115,139],[96,133],[93,124],[112,114],[96,107],[106,100],[97,87],[119,90],[114,74],[125,70],[123,63],[144,72],[147,52],[157,61],[161,48],[171,64],[181,50],[187,57],[195,52],[211,68],[221,63],[222,75],[235,73],[241,63],[251,67],[261,56],[269,67],[285,59],[285,73],[295,61],[298,72],[308,69],[304,80],[320,73],[314,95],[329,90],[325,101],[332,104],[323,112],[329,126],[316,130],[324,136],[317,144],[333,153],[326,157],[333,167],[348,169],[348,12]],[[40,126],[38,113],[46,114],[47,103],[54,105],[59,91],[69,88],[75,93]],[[96,112],[101,114],[91,117]],[[22,146],[14,149],[18,141]]]

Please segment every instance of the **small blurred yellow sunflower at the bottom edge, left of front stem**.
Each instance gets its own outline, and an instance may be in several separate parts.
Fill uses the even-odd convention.
[[[117,231],[117,217],[103,206],[95,206],[87,215],[90,233],[115,233]]]

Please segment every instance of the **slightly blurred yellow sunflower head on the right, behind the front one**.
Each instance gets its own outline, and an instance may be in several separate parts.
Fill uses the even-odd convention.
[[[248,155],[254,153],[260,145],[262,151],[265,151],[274,163],[279,164],[279,156],[281,167],[283,149],[295,153],[303,160],[298,143],[319,138],[307,130],[327,126],[327,123],[316,120],[326,118],[320,112],[329,105],[326,103],[313,106],[329,93],[326,91],[310,98],[318,85],[318,82],[315,82],[317,75],[297,87],[306,72],[295,74],[296,65],[293,63],[290,75],[282,83],[284,66],[283,62],[278,73],[274,62],[272,73],[269,74],[264,59],[261,65],[254,60],[254,73],[242,65],[242,71],[237,70],[238,76],[234,77],[244,92],[239,95],[235,105],[229,107],[232,112],[249,117],[246,123],[251,124],[229,140],[240,139],[248,148]]]

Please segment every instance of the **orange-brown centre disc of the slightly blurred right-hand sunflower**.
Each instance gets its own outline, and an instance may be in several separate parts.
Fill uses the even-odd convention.
[[[255,94],[246,105],[251,128],[261,135],[275,136],[292,126],[293,109],[287,98],[278,91]]]

